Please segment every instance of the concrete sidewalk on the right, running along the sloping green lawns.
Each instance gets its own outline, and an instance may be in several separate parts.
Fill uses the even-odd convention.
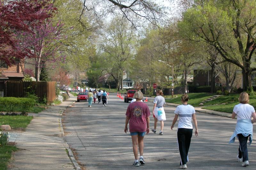
[[[148,97],[148,101],[153,102],[154,98],[153,97]],[[166,102],[166,105],[173,106],[173,107],[177,107],[180,104]],[[189,102],[188,102],[188,104],[189,104]],[[207,110],[207,109],[202,109],[201,107],[195,107],[195,110],[196,110],[196,112],[200,112],[200,113],[205,113],[205,114],[210,114],[210,115],[218,115],[218,116],[229,117],[229,118],[231,118],[231,115],[232,115],[231,113],[218,112],[218,111],[214,111],[214,110]]]

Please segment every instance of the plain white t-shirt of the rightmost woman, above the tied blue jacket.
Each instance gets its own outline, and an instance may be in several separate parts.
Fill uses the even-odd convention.
[[[236,114],[237,120],[252,119],[252,113],[255,110],[252,105],[239,103],[234,107],[233,112]]]

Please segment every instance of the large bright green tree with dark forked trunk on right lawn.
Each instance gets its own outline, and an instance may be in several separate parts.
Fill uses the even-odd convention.
[[[209,1],[184,13],[179,23],[183,36],[215,47],[222,58],[241,68],[243,88],[251,86],[256,68],[251,59],[256,48],[256,2]]]

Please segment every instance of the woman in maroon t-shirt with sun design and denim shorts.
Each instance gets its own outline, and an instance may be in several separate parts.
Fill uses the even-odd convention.
[[[136,99],[135,102],[132,102],[126,111],[126,120],[124,132],[128,131],[127,125],[129,122],[129,130],[132,136],[132,148],[135,157],[135,161],[132,164],[133,166],[145,165],[143,159],[143,138],[145,133],[149,133],[149,108],[146,103],[141,102],[143,99],[142,92],[135,92],[133,98]],[[140,150],[140,164],[138,160],[138,146]]]

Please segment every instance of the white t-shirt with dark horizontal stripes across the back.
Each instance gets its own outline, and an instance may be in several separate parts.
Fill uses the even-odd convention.
[[[196,113],[195,108],[191,105],[180,105],[176,107],[174,111],[176,115],[179,115],[178,128],[193,129],[192,115]]]

